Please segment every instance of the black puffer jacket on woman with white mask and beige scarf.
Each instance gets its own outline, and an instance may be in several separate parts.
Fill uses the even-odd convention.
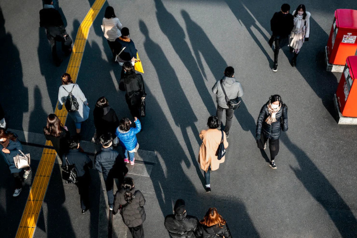
[[[282,106],[275,115],[276,122],[269,125],[265,122],[266,118],[270,115],[268,111],[268,103],[269,102],[267,102],[260,110],[257,121],[256,138],[260,138],[260,134],[263,133],[266,138],[276,140],[280,137],[281,129],[283,131],[288,130],[288,110],[286,106]]]

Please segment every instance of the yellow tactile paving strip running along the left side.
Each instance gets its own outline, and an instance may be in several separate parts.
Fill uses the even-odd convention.
[[[66,72],[71,75],[74,82],[77,80],[89,29],[105,1],[106,0],[96,0],[94,2],[78,29],[71,58],[66,70]],[[64,107],[62,110],[58,110],[57,105],[55,114],[64,124],[67,119],[67,111],[64,109]],[[52,144],[50,141],[46,141],[45,145],[51,146]],[[19,224],[19,228],[17,229],[16,237],[31,238],[34,236],[37,220],[39,218],[42,207],[42,202],[45,198],[47,187],[52,174],[52,169],[55,164],[55,158],[55,150],[44,148],[39,166],[37,167],[36,175],[34,177],[34,182],[32,183],[30,189],[29,197],[27,198],[24,212],[22,213],[22,218]]]

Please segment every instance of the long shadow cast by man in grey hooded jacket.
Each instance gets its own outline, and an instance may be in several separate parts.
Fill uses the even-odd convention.
[[[155,0],[155,6],[156,18],[161,31],[167,36],[167,39],[169,39],[176,54],[180,57],[182,63],[190,73],[193,83],[195,83],[198,94],[205,104],[207,111],[214,112],[216,110],[215,103],[212,100],[210,92],[207,90],[205,79],[203,79],[201,71],[197,66],[197,62],[185,40],[185,31],[183,31],[175,17],[166,10],[161,0]]]

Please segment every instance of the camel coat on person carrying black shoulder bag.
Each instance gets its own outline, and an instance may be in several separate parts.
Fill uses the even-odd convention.
[[[202,130],[200,133],[202,140],[200,153],[198,155],[198,163],[201,165],[201,169],[208,171],[208,167],[211,166],[211,170],[217,170],[220,167],[220,163],[225,161],[225,156],[221,160],[218,160],[216,155],[218,146],[221,143],[222,132],[217,129]],[[223,132],[223,144],[224,147],[228,147],[226,133]]]

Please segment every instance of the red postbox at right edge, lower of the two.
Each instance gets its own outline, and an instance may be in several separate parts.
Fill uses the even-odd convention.
[[[357,117],[357,56],[347,57],[336,96],[342,116]]]

